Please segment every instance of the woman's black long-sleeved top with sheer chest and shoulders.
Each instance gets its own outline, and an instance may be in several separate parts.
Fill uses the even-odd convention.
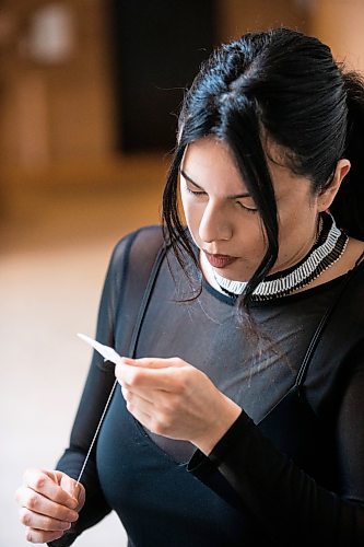
[[[160,244],[158,228],[143,229],[113,254],[97,339],[121,354]],[[167,251],[134,356],[180,357],[243,412],[207,457],[145,430],[117,386],[83,476],[86,504],[74,529],[51,545],[71,545],[111,509],[133,547],[363,545],[364,266],[254,303],[258,338],[238,324],[233,300],[192,264],[188,270],[190,279]],[[114,380],[95,353],[58,464],[73,477]]]

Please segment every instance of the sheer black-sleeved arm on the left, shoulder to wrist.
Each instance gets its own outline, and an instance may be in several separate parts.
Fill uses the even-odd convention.
[[[162,241],[160,226],[149,226],[125,237],[114,251],[101,300],[96,338],[107,346],[117,346],[121,353],[128,353],[130,349],[140,303]],[[121,331],[117,329],[119,324]],[[110,363],[104,364],[103,358],[94,352],[70,447],[58,463],[58,468],[73,478],[80,474],[114,382]],[[52,543],[52,547],[68,547],[83,529],[96,524],[110,511],[98,482],[95,450],[81,481],[86,490],[86,501],[80,519],[71,533]]]

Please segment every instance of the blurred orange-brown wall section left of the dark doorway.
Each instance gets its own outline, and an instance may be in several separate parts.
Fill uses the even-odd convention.
[[[61,2],[74,22],[74,48],[55,65],[32,58],[27,46],[32,18],[47,3],[8,0],[2,10],[11,30],[0,58],[1,161],[10,165],[104,156],[111,149],[104,2]]]

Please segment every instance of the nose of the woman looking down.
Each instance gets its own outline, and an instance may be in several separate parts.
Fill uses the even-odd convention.
[[[209,201],[199,225],[201,241],[211,243],[214,241],[228,241],[233,235],[233,228],[223,207]]]

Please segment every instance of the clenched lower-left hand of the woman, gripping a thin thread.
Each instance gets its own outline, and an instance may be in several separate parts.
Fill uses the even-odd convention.
[[[79,519],[84,500],[84,487],[64,473],[27,469],[16,490],[26,539],[38,544],[62,537]]]

